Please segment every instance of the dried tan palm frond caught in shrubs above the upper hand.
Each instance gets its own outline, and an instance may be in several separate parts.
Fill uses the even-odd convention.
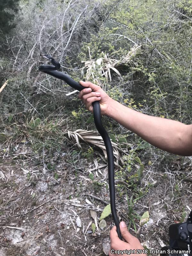
[[[93,82],[100,84],[98,77],[95,77],[94,71],[98,70],[101,76],[105,76],[107,79],[109,77],[111,82],[111,69],[116,72],[118,76],[121,77],[120,72],[117,68],[123,67],[125,64],[130,64],[130,66],[138,66],[138,63],[134,60],[134,56],[136,53],[140,52],[142,45],[135,44],[120,60],[112,59],[108,57],[108,54],[104,54],[103,58],[99,58],[97,60],[91,59],[87,61],[81,61],[84,63],[84,68],[87,68],[86,71],[86,80],[89,81],[90,77],[92,77]],[[90,52],[90,47],[89,47]]]

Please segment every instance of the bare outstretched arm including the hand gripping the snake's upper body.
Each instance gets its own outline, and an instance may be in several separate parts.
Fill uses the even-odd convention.
[[[79,93],[79,97],[90,111],[92,102],[100,100],[102,115],[113,118],[151,145],[176,155],[192,156],[192,124],[142,114],[111,99],[98,85],[82,81],[80,83],[92,89],[92,92],[86,92],[84,89]],[[96,95],[95,92],[100,94]]]

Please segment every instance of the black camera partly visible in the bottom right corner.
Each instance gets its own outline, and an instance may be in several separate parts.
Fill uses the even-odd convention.
[[[169,227],[170,245],[161,248],[162,256],[192,255],[192,211],[186,222]]]

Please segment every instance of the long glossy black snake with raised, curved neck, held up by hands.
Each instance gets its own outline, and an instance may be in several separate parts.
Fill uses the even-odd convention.
[[[60,63],[54,60],[51,56],[47,54],[41,54],[43,58],[49,60],[53,65],[41,65],[39,67],[39,71],[44,72],[48,75],[59,78],[60,80],[65,81],[68,85],[73,87],[75,90],[81,91],[85,89],[81,84],[77,83],[70,76],[65,73],[58,71],[60,69]],[[111,140],[109,139],[108,133],[101,122],[101,110],[99,101],[95,101],[92,103],[93,106],[93,117],[95,126],[100,133],[105,147],[107,151],[107,160],[108,160],[108,180],[109,180],[109,193],[110,193],[110,205],[111,205],[111,213],[113,216],[114,223],[116,225],[116,231],[119,238],[122,240],[121,232],[119,228],[119,219],[116,214],[116,204],[115,204],[115,180],[114,180],[114,156],[113,156],[113,148],[111,145]]]

